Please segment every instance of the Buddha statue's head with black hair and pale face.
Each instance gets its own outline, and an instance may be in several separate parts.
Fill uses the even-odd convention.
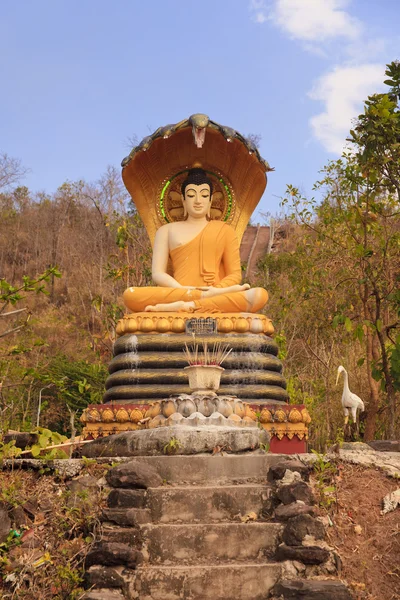
[[[195,167],[188,171],[182,183],[184,218],[210,220],[213,186],[204,169]]]

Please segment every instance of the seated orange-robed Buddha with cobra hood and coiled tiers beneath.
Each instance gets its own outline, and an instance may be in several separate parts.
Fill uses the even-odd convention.
[[[158,128],[122,161],[122,178],[153,247],[154,287],[129,287],[105,402],[188,393],[182,349],[193,334],[233,348],[221,393],[287,399],[268,299],[242,285],[239,247],[270,167],[246,138],[206,115]]]

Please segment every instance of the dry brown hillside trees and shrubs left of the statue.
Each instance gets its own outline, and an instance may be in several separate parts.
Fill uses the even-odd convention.
[[[0,428],[29,429],[39,415],[64,433],[71,411],[102,400],[122,291],[150,282],[150,243],[115,168],[33,194],[18,170],[10,178],[19,165],[10,160],[0,190]]]

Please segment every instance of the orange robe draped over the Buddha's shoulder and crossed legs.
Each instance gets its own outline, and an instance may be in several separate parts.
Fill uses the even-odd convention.
[[[239,242],[234,229],[221,221],[210,221],[190,242],[170,251],[173,277],[182,286],[230,287],[241,283]],[[257,312],[266,303],[268,294],[261,294]],[[125,305],[133,312],[149,305],[183,300],[194,302],[194,310],[203,312],[247,312],[249,302],[245,292],[230,292],[211,298],[201,298],[198,289],[168,287],[131,287],[125,290]]]

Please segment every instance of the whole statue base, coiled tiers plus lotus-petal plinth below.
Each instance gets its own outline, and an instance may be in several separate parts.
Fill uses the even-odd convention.
[[[196,334],[186,332],[191,319]],[[210,320],[215,330],[206,333]],[[305,452],[310,417],[304,406],[287,404],[278,346],[268,337],[273,332],[270,319],[257,314],[126,315],[117,326],[104,404],[89,406],[81,417],[84,437],[175,426],[244,431],[259,425],[271,434],[272,452]],[[233,349],[217,397],[191,394],[183,350],[193,342]]]

